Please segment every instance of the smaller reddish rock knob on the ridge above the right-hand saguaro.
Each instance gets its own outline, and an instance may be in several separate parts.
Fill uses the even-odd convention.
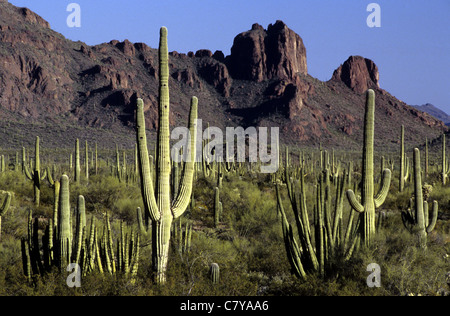
[[[375,63],[361,56],[350,56],[337,68],[332,80],[339,80],[357,93],[364,93],[369,88],[379,88],[379,73]]]

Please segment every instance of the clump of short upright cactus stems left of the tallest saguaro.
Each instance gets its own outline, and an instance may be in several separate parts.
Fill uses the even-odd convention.
[[[22,239],[22,260],[24,274],[28,280],[35,275],[45,275],[53,268],[64,270],[70,263],[78,264],[83,276],[98,271],[110,274],[123,272],[133,280],[139,264],[139,235],[126,233],[121,226],[120,238],[114,247],[109,216],[105,217],[103,233],[95,217],[87,225],[85,200],[78,196],[76,207],[76,225],[70,208],[69,177],[61,176],[59,207],[53,218],[33,218],[32,211],[28,218],[28,237]],[[47,222],[42,240],[39,241],[40,222]],[[116,253],[115,253],[116,252]]]

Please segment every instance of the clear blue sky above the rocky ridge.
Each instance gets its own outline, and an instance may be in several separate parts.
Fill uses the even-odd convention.
[[[449,0],[9,0],[28,7],[53,30],[89,45],[112,39],[158,46],[169,30],[169,51],[206,48],[230,53],[234,37],[259,23],[282,20],[306,46],[308,72],[330,79],[350,55],[372,59],[380,86],[410,105],[432,103],[450,114]],[[370,3],[380,27],[367,26]],[[81,27],[69,27],[67,6],[81,8]]]

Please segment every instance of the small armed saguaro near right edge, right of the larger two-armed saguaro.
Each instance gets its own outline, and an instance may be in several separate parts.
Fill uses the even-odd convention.
[[[438,203],[433,201],[431,221],[428,214],[428,203],[423,198],[422,176],[420,169],[420,151],[414,148],[414,211],[402,212],[405,227],[415,234],[421,248],[427,248],[427,235],[434,229],[438,215]]]

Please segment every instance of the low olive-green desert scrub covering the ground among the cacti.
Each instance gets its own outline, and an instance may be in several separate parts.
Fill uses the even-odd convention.
[[[111,155],[114,155],[111,152]],[[132,164],[130,163],[132,167]],[[1,295],[438,295],[448,291],[446,273],[449,270],[449,224],[443,219],[442,198],[445,188],[433,187],[430,199],[440,201],[436,227],[422,250],[416,238],[404,227],[402,207],[392,205],[381,209],[386,215],[377,228],[373,245],[360,247],[349,260],[335,257],[324,277],[311,274],[301,280],[291,273],[277,211],[275,184],[270,176],[235,172],[225,173],[220,191],[223,211],[218,227],[214,225],[214,188],[216,177],[204,177],[196,171],[193,196],[182,227],[192,225],[188,251],[180,251],[179,235],[172,232],[167,282],[158,286],[152,281],[151,234],[141,235],[139,269],[136,281],[125,275],[100,273],[95,270],[82,278],[80,288],[66,284],[68,272],[53,269],[27,282],[22,267],[21,238],[27,236],[30,209],[37,218],[51,218],[53,190],[42,187],[41,205],[34,206],[33,186],[20,171],[7,170],[0,174],[2,189],[14,192],[10,208],[3,216],[0,242]],[[314,192],[314,184],[307,182],[307,192]],[[406,183],[404,192],[411,191]],[[89,182],[70,186],[72,213],[78,194],[86,199],[86,215],[95,216],[102,223],[110,214],[113,235],[120,235],[120,223],[125,222],[138,231],[137,207],[142,207],[138,183],[120,182],[108,168],[103,168]],[[395,192],[389,199],[395,201]],[[282,199],[287,202],[285,189]],[[402,199],[409,203],[408,200]],[[101,202],[99,202],[101,201]],[[3,202],[3,201],[0,201]],[[308,197],[308,205],[314,198]],[[444,204],[445,205],[445,204]],[[287,206],[287,205],[286,205]],[[350,206],[344,203],[344,222]],[[292,212],[288,220],[294,222]],[[442,219],[441,219],[442,218]],[[313,217],[311,217],[313,220]],[[73,225],[75,225],[75,220]],[[178,227],[178,220],[174,227]],[[100,226],[99,226],[100,227]],[[295,230],[294,230],[295,232]],[[43,231],[41,232],[43,233]],[[115,246],[117,241],[115,240]],[[117,258],[116,258],[117,260]],[[381,287],[369,288],[366,279],[370,263],[381,267]],[[220,279],[213,284],[209,269],[212,263],[220,267]],[[441,292],[440,292],[441,291]]]

